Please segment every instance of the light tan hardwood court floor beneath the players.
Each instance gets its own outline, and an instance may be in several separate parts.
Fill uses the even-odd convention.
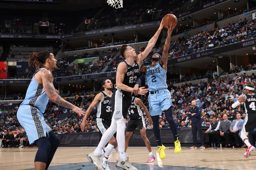
[[[59,147],[50,166],[89,162],[85,155],[93,152],[94,149],[95,147]],[[36,151],[37,148],[1,148],[0,169],[17,170],[34,168]],[[158,156],[156,154],[156,147],[152,147],[152,152],[156,157]],[[164,160],[159,159],[158,156],[153,163],[147,163],[148,150],[146,147],[128,147],[127,150],[129,160],[134,163],[135,166],[136,164],[144,164],[146,169],[152,169],[150,165],[158,165],[158,168],[161,168],[161,166],[177,166],[179,168],[188,167],[185,169],[191,169],[189,167],[196,167],[197,169],[256,169],[256,152],[253,152],[252,155],[246,159],[243,157],[244,152],[245,149],[241,148],[189,149],[188,147],[182,147],[181,153],[174,153],[173,147],[166,147],[166,157]],[[115,163],[117,158],[118,152],[113,150],[109,157],[109,162]],[[89,164],[87,163],[85,165]],[[112,166],[114,167],[114,164]],[[89,168],[89,166],[86,167],[83,165],[80,169],[91,170],[92,167],[90,166]],[[143,168],[143,170],[146,169]]]

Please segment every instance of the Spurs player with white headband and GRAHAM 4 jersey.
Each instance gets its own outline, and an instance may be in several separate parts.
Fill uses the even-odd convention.
[[[246,152],[244,153],[245,158],[248,158],[255,150],[255,147],[250,144],[247,137],[248,133],[252,132],[256,127],[256,94],[254,94],[253,91],[254,87],[252,85],[246,85],[245,95],[240,97],[235,103],[232,104],[232,107],[236,108],[242,102],[244,103],[246,117],[244,119],[244,125],[241,130],[241,138],[247,145]]]

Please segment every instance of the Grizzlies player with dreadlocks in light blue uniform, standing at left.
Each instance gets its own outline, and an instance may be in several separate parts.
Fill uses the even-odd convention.
[[[28,86],[26,97],[20,104],[17,118],[26,130],[30,144],[38,146],[35,157],[35,170],[48,169],[54,153],[60,142],[51,128],[44,122],[44,111],[49,99],[63,107],[73,109],[77,115],[84,115],[84,111],[72,105],[58,95],[52,84],[52,71],[56,69],[57,61],[49,51],[34,52],[29,56],[28,65],[36,66],[36,72]]]

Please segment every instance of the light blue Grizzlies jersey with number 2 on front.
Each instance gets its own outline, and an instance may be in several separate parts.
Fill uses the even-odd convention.
[[[154,67],[147,66],[145,80],[148,85],[148,91],[167,89],[166,72],[159,62]]]

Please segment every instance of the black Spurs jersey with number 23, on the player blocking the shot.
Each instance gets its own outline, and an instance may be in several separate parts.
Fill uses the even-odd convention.
[[[133,65],[129,64],[126,60],[124,60],[124,63],[126,64],[127,69],[124,75],[123,84],[133,88],[136,83],[137,77],[139,77],[139,74],[140,74],[140,65],[136,60]],[[131,92],[127,92],[123,90],[121,91],[125,95],[131,96]]]

